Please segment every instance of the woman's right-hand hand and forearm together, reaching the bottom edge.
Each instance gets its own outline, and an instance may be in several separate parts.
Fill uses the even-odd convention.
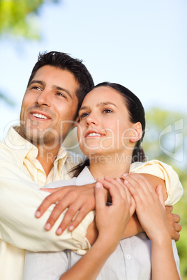
[[[151,240],[152,279],[179,280],[165,221],[162,186],[158,185],[155,192],[149,180],[135,173],[124,176],[124,184],[135,199],[137,217]]]

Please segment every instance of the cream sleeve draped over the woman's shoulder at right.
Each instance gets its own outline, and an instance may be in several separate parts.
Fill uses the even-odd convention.
[[[172,166],[160,162],[159,160],[150,160],[149,162],[134,162],[130,165],[130,172],[148,173],[165,180],[167,189],[167,199],[165,205],[174,205],[184,193],[184,189],[179,180],[179,176],[172,169]]]

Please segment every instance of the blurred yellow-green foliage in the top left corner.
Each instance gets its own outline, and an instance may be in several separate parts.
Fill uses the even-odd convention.
[[[0,0],[0,34],[39,39],[39,10],[57,0]]]

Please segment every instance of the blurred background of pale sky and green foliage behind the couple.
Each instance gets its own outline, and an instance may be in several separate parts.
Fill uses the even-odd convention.
[[[187,279],[186,0],[0,0],[0,140],[19,123],[22,97],[38,52],[82,59],[95,84],[133,91],[146,111],[147,159],[172,165],[184,186],[181,279]],[[71,132],[65,145],[79,152]]]

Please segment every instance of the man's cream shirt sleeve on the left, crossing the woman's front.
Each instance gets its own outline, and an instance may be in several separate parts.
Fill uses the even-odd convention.
[[[84,218],[73,232],[66,229],[62,235],[55,233],[64,212],[52,230],[45,231],[45,223],[54,205],[51,205],[40,219],[35,217],[35,212],[49,193],[38,190],[38,185],[18,166],[16,157],[2,148],[0,148],[0,153],[1,240],[29,251],[89,249],[86,233],[88,224],[93,220],[93,212],[90,212],[87,220]]]

